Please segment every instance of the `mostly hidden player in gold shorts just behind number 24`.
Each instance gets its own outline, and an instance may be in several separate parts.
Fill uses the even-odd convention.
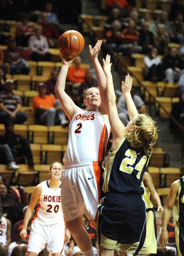
[[[157,211],[163,212],[163,207],[158,196],[157,191],[153,185],[153,180],[148,172],[144,172],[143,175],[144,194],[143,200],[146,204],[146,247],[147,255],[150,253],[157,253],[157,222],[155,213],[153,211],[153,204],[150,197],[158,205]]]

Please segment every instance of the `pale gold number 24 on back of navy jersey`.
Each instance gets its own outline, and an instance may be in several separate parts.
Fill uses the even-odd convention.
[[[136,151],[132,150],[132,149],[127,149],[127,151],[125,152],[125,158],[123,158],[121,165],[120,165],[120,171],[121,172],[126,172],[128,174],[131,174],[133,172],[133,170],[137,170],[138,173],[136,175],[137,179],[140,179],[141,176],[141,172],[143,170],[144,164],[146,163],[146,156],[143,156],[140,161],[136,164],[135,167],[132,167],[133,164],[135,164],[136,162]],[[129,164],[129,166],[128,166]]]

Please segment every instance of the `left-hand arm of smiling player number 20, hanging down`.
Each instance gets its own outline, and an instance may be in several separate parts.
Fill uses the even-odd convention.
[[[42,185],[40,183],[34,189],[31,199],[30,199],[30,202],[29,202],[29,205],[26,209],[26,213],[24,216],[24,224],[22,226],[22,230],[20,231],[20,237],[22,237],[22,238],[26,238],[26,236],[27,236],[27,225],[28,225],[29,220],[31,220],[33,210],[40,198],[41,191],[42,191]]]

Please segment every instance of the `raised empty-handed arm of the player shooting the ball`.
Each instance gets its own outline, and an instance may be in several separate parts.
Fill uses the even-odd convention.
[[[92,46],[89,45],[89,52],[90,56],[92,58],[92,62],[95,68],[96,76],[97,76],[97,81],[99,85],[99,92],[100,92],[100,111],[102,114],[107,114],[107,105],[106,105],[106,75],[103,71],[102,66],[99,63],[98,60],[98,54],[100,51],[100,47],[102,44],[102,40],[98,40],[97,43],[95,44],[94,48],[92,49]]]

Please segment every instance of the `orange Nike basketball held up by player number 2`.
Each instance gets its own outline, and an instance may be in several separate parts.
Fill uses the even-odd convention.
[[[60,49],[68,55],[77,55],[84,48],[84,37],[76,30],[68,30],[59,40]]]

